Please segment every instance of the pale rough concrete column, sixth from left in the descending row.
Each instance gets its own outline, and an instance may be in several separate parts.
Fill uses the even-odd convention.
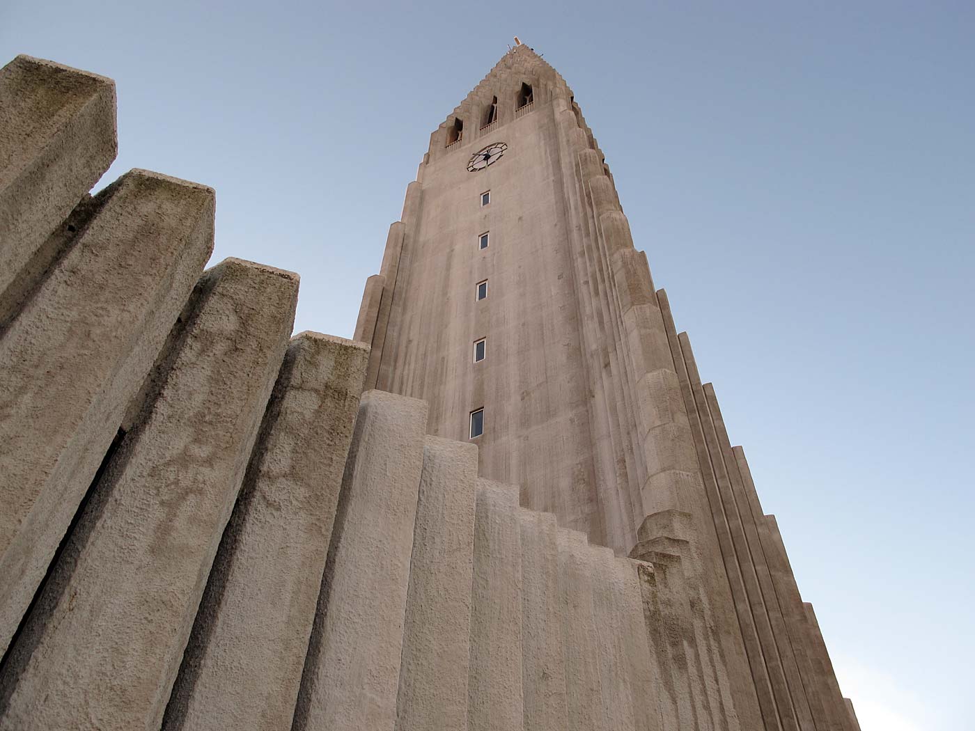
[[[397,731],[467,727],[478,448],[427,437],[409,569]]]

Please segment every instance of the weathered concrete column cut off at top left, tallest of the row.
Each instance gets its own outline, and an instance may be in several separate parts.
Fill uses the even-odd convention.
[[[8,288],[43,275],[59,253],[49,235],[117,151],[111,79],[29,56],[0,69],[0,321],[20,299]]]

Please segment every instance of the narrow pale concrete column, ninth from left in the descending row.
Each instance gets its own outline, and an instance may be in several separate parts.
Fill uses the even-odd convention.
[[[562,595],[567,731],[604,727],[600,652],[593,606],[593,571],[584,533],[559,530],[559,590]]]

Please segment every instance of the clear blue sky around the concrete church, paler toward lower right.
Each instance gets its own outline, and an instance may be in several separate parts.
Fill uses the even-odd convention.
[[[864,731],[975,729],[975,4],[0,4],[116,79],[130,168],[349,336],[429,134],[513,34],[565,76]]]

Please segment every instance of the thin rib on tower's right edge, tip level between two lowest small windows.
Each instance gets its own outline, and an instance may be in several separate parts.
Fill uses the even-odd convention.
[[[729,482],[730,502],[734,506],[736,515],[741,521],[744,533],[744,544],[747,548],[748,559],[755,572],[758,584],[759,596],[753,601],[753,607],[764,612],[769,625],[771,635],[771,646],[765,648],[766,654],[774,652],[778,657],[785,675],[785,682],[792,701],[796,719],[801,729],[814,729],[815,724],[812,711],[806,696],[805,687],[800,676],[799,664],[796,653],[793,651],[789,632],[786,629],[785,619],[782,615],[782,608],[779,605],[775,587],[772,584],[771,573],[765,552],[761,544],[761,537],[757,521],[761,519],[761,514],[756,516],[753,511],[753,500],[750,499],[748,491],[743,484],[741,473],[738,470],[738,461],[731,448],[728,439],[727,429],[722,418],[721,406],[718,404],[718,396],[715,394],[714,385],[706,383],[703,386],[704,398],[707,409],[711,417],[711,425],[715,430],[717,438],[718,458],[722,460],[724,471]]]

